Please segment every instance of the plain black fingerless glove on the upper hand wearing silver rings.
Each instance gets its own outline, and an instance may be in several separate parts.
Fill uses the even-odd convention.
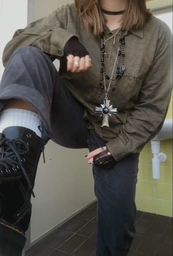
[[[71,37],[64,47],[64,54],[72,54],[74,57],[79,56],[80,58],[89,55],[86,48],[81,44],[76,36]]]

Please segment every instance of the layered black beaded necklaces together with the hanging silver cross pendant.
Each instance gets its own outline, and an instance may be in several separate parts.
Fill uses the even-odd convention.
[[[114,87],[110,90],[111,92],[113,92],[117,86],[117,83],[119,81],[119,79],[124,75],[124,71],[125,71],[125,62],[124,62],[124,57],[125,57],[125,53],[124,53],[124,46],[125,46],[125,29],[121,29],[121,36],[120,36],[120,40],[119,40],[119,50],[117,52],[117,57],[116,57],[116,61],[114,64],[114,68],[118,59],[118,64],[117,64],[117,71],[116,71],[116,78],[112,79],[113,76],[113,72],[114,72],[114,68],[113,68],[113,72],[112,72],[112,76],[109,77],[108,75],[106,75],[105,73],[105,29],[103,28],[103,32],[100,34],[100,44],[101,44],[101,74],[100,74],[100,88],[101,90],[104,90],[104,85],[105,85],[105,100],[104,100],[104,104],[101,104],[101,107],[96,107],[95,108],[95,113],[100,114],[100,116],[103,116],[103,122],[102,122],[102,126],[108,126],[109,127],[109,117],[112,116],[112,114],[116,114],[117,108],[113,108],[112,105],[110,105],[110,100],[108,100],[108,93],[109,93],[109,89],[110,89],[110,84],[111,82],[115,82]],[[122,48],[122,50],[121,50]],[[121,66],[121,71],[120,71],[120,58],[122,56],[123,59],[123,65]],[[106,90],[106,83],[105,83],[105,79],[109,80],[109,86],[108,89]],[[104,85],[103,85],[103,81],[104,81]]]

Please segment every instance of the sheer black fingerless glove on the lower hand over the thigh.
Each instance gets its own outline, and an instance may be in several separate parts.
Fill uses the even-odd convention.
[[[98,155],[94,156],[93,163],[94,165],[98,165],[98,167],[109,169],[117,163],[117,161],[110,154],[107,147],[102,147],[102,151]]]

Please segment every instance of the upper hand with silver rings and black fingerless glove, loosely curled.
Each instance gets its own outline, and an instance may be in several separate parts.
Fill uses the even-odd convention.
[[[65,44],[64,54],[67,55],[67,71],[69,72],[83,72],[93,66],[88,51],[75,36]]]

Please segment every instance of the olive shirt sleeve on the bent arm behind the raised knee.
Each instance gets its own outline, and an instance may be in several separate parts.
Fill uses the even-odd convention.
[[[62,57],[65,44],[75,36],[66,30],[68,15],[68,8],[60,7],[52,14],[31,22],[26,28],[16,30],[12,40],[4,48],[3,65],[7,64],[12,53],[22,46],[38,47],[50,58]]]

